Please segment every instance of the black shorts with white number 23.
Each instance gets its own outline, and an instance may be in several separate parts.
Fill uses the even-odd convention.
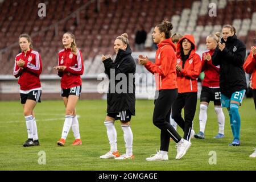
[[[210,102],[213,101],[213,104],[216,106],[221,105],[221,93],[220,88],[209,88],[207,86],[203,86],[201,90],[200,101],[201,102]]]

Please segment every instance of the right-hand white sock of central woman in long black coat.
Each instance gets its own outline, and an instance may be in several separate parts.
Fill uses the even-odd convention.
[[[130,125],[121,125],[125,139],[126,155],[133,155],[133,132]]]

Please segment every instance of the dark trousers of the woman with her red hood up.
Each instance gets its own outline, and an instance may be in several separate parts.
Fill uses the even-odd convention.
[[[172,105],[172,119],[183,129],[185,140],[189,140],[193,118],[196,113],[197,92],[179,93]],[[184,119],[181,110],[184,107]]]

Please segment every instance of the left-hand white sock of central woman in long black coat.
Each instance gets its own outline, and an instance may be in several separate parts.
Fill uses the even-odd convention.
[[[117,151],[117,130],[115,130],[114,122],[104,121],[104,125],[107,129],[107,134],[109,138],[110,151]]]

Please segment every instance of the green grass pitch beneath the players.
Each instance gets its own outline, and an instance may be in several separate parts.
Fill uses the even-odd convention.
[[[136,116],[131,120],[134,134],[134,160],[117,161],[100,159],[109,151],[104,126],[106,101],[79,101],[76,107],[80,116],[82,146],[70,146],[74,140],[72,130],[66,146],[57,146],[64,123],[63,101],[43,101],[35,108],[40,146],[23,147],[27,139],[26,123],[19,101],[0,102],[0,170],[256,170],[256,158],[249,158],[256,147],[256,112],[252,99],[243,100],[241,114],[241,146],[230,147],[232,133],[228,112],[225,114],[225,138],[213,139],[218,133],[218,123],[213,104],[208,109],[205,139],[192,139],[192,146],[180,160],[175,160],[175,143],[171,141],[169,160],[147,162],[145,159],[159,150],[160,130],[152,124],[152,100],[136,102]],[[199,131],[199,100],[194,118],[194,129]],[[119,121],[115,122],[117,144],[125,152],[123,133]],[[181,136],[183,132],[178,130]],[[39,165],[39,151],[46,152],[46,164]],[[216,164],[209,164],[216,152]]]

